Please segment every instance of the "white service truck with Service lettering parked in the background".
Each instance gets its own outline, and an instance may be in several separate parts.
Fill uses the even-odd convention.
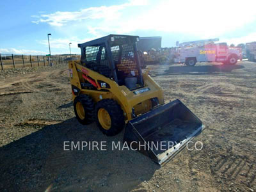
[[[179,44],[175,63],[185,63],[195,66],[197,62],[218,62],[235,65],[237,60],[242,60],[241,51],[235,47],[228,47],[227,43],[214,43],[219,39],[198,40]]]

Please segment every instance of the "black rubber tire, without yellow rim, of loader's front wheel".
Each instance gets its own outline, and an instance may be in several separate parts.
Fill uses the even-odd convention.
[[[106,129],[104,129],[104,126],[100,124],[100,116],[99,116],[99,110],[106,110],[108,112],[108,115],[111,119],[111,126]],[[106,134],[106,136],[115,136],[119,132],[122,131],[125,127],[125,118],[124,118],[124,111],[119,106],[119,104],[113,100],[113,99],[103,99],[97,102],[95,106],[95,116],[96,116],[96,123],[100,129],[100,131],[103,132],[103,134]]]

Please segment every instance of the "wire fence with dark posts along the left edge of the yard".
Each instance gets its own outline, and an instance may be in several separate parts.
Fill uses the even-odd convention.
[[[15,54],[0,54],[1,70],[8,68],[24,68],[24,67],[39,67],[51,66],[57,64],[67,64],[70,60],[79,60],[80,56],[31,56],[31,55],[15,55]]]

